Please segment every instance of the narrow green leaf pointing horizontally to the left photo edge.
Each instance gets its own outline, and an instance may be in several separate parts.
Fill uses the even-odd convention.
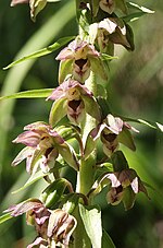
[[[43,98],[48,97],[52,93],[53,88],[41,88],[18,92],[12,95],[1,96],[1,99],[15,99],[15,98]]]

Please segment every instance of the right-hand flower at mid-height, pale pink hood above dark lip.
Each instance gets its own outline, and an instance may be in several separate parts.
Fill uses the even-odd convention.
[[[123,121],[120,117],[114,117],[109,114],[103,122],[90,132],[90,137],[93,139],[93,141],[100,138],[102,141],[103,152],[110,157],[118,149],[120,143],[125,144],[133,151],[136,150],[129,130],[138,132],[135,128]]]

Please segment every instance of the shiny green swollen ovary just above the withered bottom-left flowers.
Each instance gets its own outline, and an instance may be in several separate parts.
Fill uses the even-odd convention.
[[[42,191],[40,201],[45,203],[46,208],[52,208],[61,199],[66,186],[67,180],[64,178],[54,180]]]

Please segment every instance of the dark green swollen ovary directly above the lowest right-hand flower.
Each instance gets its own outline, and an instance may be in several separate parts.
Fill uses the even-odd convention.
[[[124,156],[122,151],[116,151],[111,156],[114,172],[122,172],[123,169],[129,168],[126,157]]]

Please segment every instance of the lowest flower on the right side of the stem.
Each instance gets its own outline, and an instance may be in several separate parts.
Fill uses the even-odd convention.
[[[134,205],[135,198],[138,192],[143,192],[148,196],[142,181],[138,177],[137,173],[131,168],[123,169],[122,172],[109,173],[102,178],[102,180],[105,179],[109,179],[111,182],[106,200],[113,205],[123,201],[125,209],[128,210]]]

